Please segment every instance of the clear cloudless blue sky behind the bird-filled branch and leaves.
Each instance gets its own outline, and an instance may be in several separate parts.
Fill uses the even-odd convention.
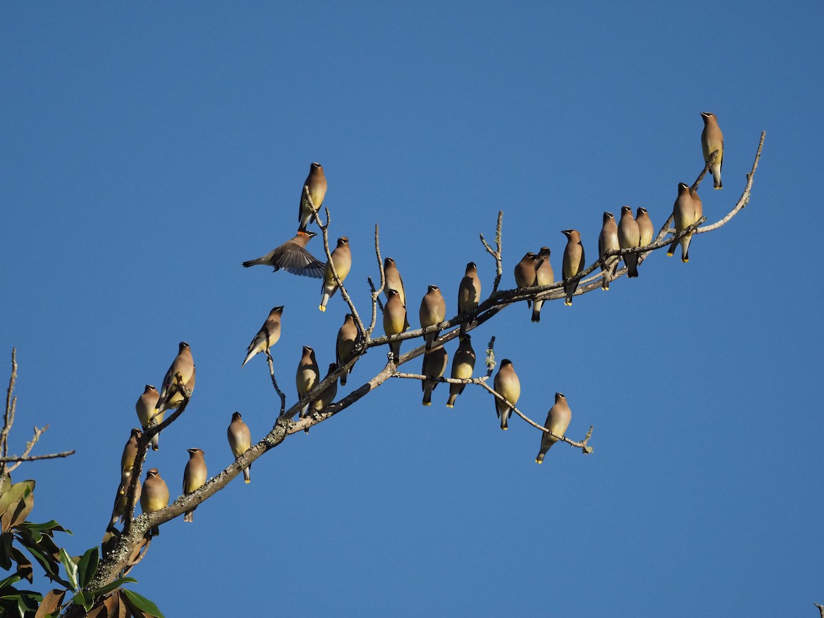
[[[700,172],[702,122],[725,137],[715,220],[767,132],[750,205],[698,237],[691,262],[654,255],[610,293],[511,307],[475,331],[521,377],[557,446],[467,389],[447,410],[386,383],[289,438],[195,513],[163,527],[133,571],[166,616],[814,616],[824,602],[822,297],[817,235],[824,87],[820,2],[677,7],[416,2],[5,3],[0,9],[0,353],[18,350],[12,450],[50,425],[31,518],[100,541],[134,402],[180,340],[198,367],[185,417],[150,452],[173,495],[187,447],[214,474],[241,411],[255,438],[279,401],[263,358],[241,369],[283,304],[276,371],[294,400],[301,346],[325,370],[345,308],[316,279],[242,269],[293,236],[311,161],[332,235],[368,311],[373,226],[410,295],[454,311],[469,260],[485,290],[504,212],[504,280],[602,211],[658,225]],[[321,243],[310,248],[321,255]],[[809,272],[809,276],[807,272]],[[405,346],[408,349],[408,344]],[[455,344],[449,344],[452,354]],[[368,354],[358,386],[385,361]],[[479,363],[480,367],[480,363]],[[412,371],[419,361],[410,363]],[[5,380],[8,362],[0,363]],[[341,394],[349,391],[339,391]]]

